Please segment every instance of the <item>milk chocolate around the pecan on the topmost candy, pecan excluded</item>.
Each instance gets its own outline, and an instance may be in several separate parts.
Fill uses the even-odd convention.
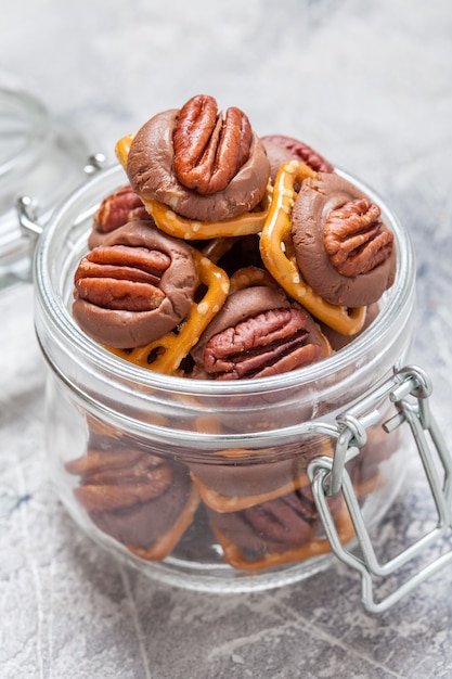
[[[164,111],[137,132],[130,146],[127,175],[144,201],[156,198],[189,219],[217,221],[251,210],[262,200],[270,163],[258,137],[253,134],[248,161],[223,191],[201,195],[181,184],[173,171],[172,132],[179,110]]]

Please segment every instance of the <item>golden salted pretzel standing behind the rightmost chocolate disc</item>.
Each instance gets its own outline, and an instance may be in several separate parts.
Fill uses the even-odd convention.
[[[315,177],[315,172],[304,163],[290,161],[281,166],[260,236],[261,257],[280,285],[312,316],[343,335],[354,335],[364,324],[365,307],[349,309],[325,302],[304,281],[295,262],[290,235],[290,213],[297,195],[294,184],[307,177]]]

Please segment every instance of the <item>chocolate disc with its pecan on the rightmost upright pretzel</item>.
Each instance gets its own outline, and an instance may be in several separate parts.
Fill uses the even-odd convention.
[[[367,306],[393,283],[393,234],[379,207],[336,174],[319,172],[302,182],[292,235],[302,277],[331,304]]]

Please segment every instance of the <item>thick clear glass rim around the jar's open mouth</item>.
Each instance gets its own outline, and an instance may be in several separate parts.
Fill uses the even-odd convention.
[[[338,373],[350,362],[358,362],[363,359],[375,338],[388,332],[395,323],[395,319],[410,304],[414,291],[415,281],[415,257],[408,231],[400,222],[399,218],[373,189],[361,180],[358,180],[349,172],[335,168],[335,171],[351,181],[357,188],[363,191],[372,201],[382,208],[383,220],[393,231],[397,243],[397,273],[391,289],[385,293],[385,305],[380,313],[373,321],[372,325],[361,335],[353,340],[346,347],[332,356],[318,361],[317,363],[290,371],[259,379],[245,379],[240,381],[209,381],[190,380],[186,377],[166,375],[152,370],[146,370],[124,360],[89,337],[72,318],[67,310],[65,300],[60,291],[52,285],[51,255],[50,248],[54,239],[62,238],[62,222],[74,225],[80,215],[86,218],[93,214],[100,203],[87,206],[87,198],[93,194],[106,195],[115,188],[127,183],[124,169],[119,165],[114,165],[100,171],[89,181],[85,182],[66,198],[54,212],[49,225],[39,239],[35,252],[34,279],[35,289],[42,307],[47,310],[48,317],[57,333],[64,337],[75,354],[83,355],[100,371],[107,371],[114,376],[127,380],[130,383],[141,385],[145,388],[162,389],[167,393],[180,395],[204,395],[208,390],[209,396],[231,396],[262,394],[287,389],[298,386],[300,382],[312,383],[321,381]],[[102,189],[105,193],[102,194]]]

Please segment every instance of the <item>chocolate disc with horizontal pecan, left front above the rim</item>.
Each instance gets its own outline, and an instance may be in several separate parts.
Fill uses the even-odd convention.
[[[75,273],[73,315],[108,347],[142,346],[189,313],[196,286],[192,252],[148,221],[115,229]]]

